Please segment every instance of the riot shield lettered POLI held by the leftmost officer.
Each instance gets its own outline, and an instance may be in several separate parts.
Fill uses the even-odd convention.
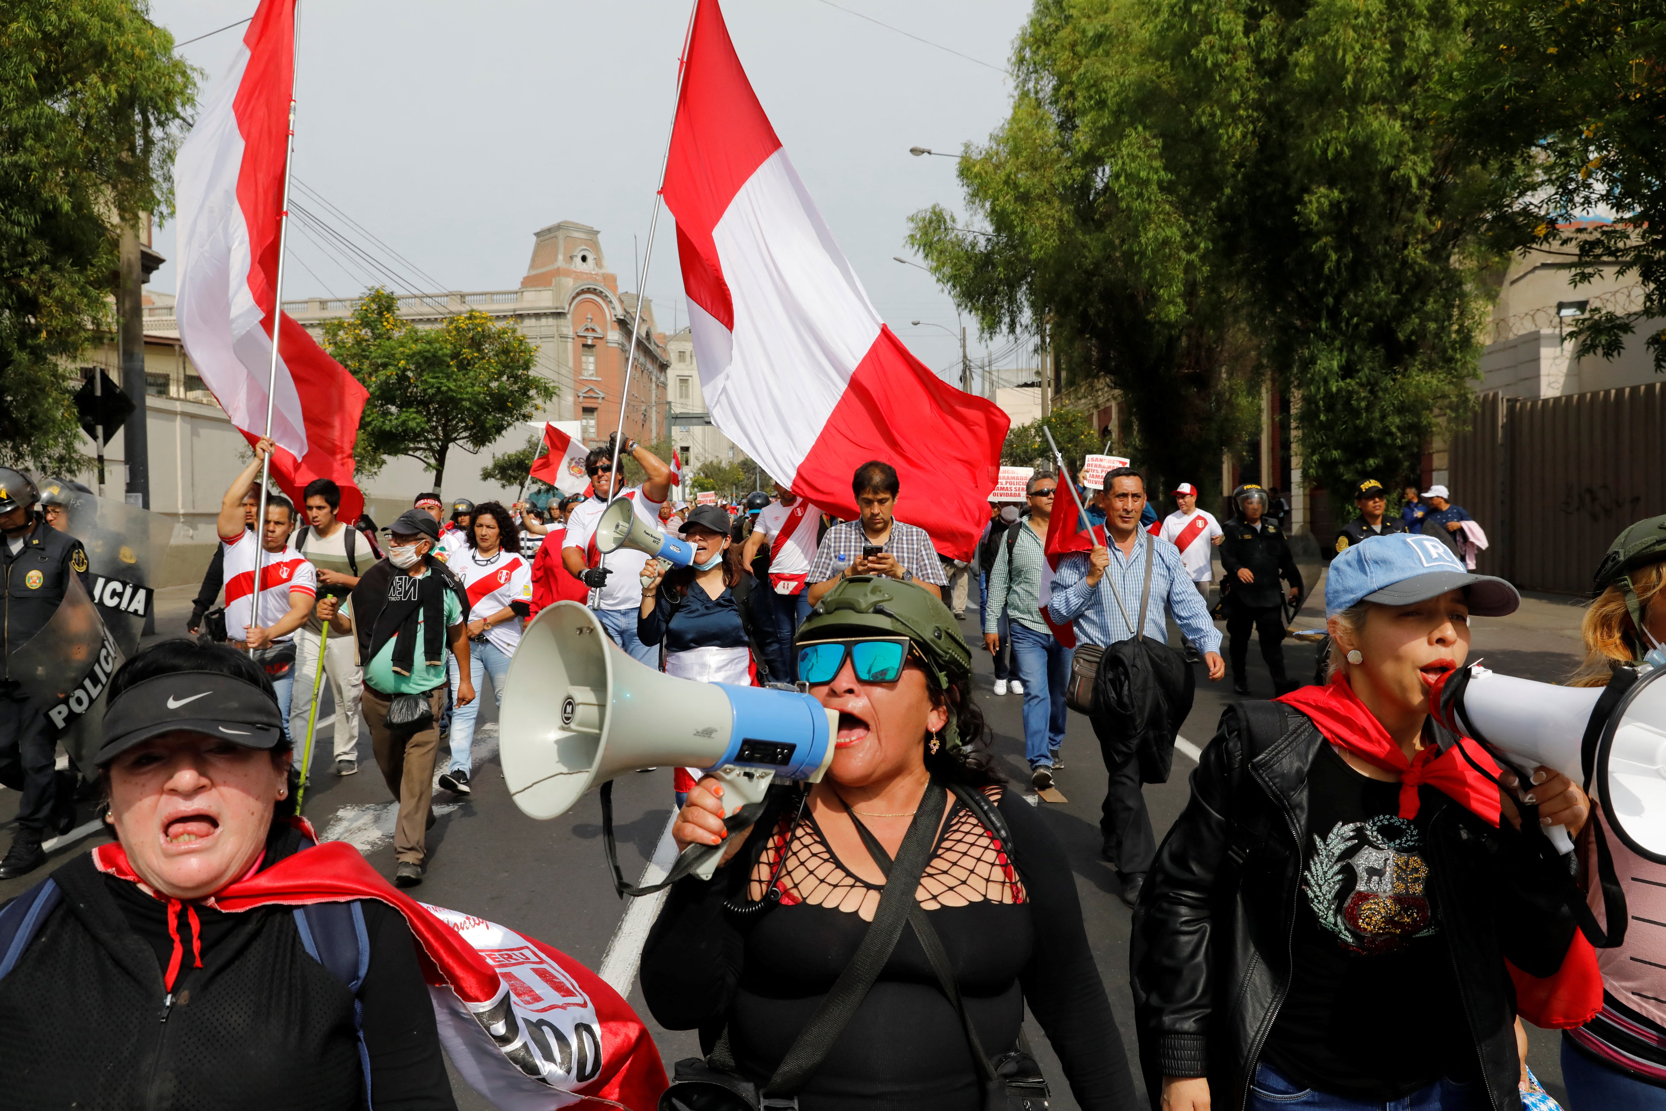
[[[88,780],[98,775],[105,688],[125,658],[75,575],[52,620],[7,656],[12,681],[47,715],[50,736]]]

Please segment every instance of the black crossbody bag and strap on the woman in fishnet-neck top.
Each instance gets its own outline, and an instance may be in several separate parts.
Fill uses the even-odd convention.
[[[946,798],[940,783],[931,781],[926,786],[920,810],[903,834],[895,864],[890,869],[881,864],[881,869],[886,869],[885,891],[880,894],[880,906],[873,911],[868,933],[856,948],[856,956],[798,1031],[798,1038],[768,1083],[760,1088],[740,1074],[725,1029],[708,1058],[686,1058],[676,1063],[671,1086],[660,1096],[660,1111],[796,1111],[798,1093],[810,1083],[833,1049],[833,1043],[855,1018],[856,1008],[880,978],[880,969],[891,958],[896,939],[903,936],[903,926],[916,906],[915,888],[920,886],[920,876],[931,859]]]

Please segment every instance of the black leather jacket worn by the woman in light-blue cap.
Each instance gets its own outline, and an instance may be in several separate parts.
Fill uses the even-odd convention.
[[[1133,926],[1140,1058],[1153,1108],[1163,1076],[1208,1076],[1215,1108],[1245,1106],[1289,988],[1311,848],[1308,768],[1324,743],[1293,708],[1241,703],[1221,716],[1191,773],[1191,801],[1158,849]],[[1561,968],[1576,928],[1563,901],[1569,879],[1544,838],[1508,821],[1494,830],[1441,798],[1424,839],[1433,909],[1488,1098],[1496,1111],[1514,1111],[1516,1006],[1501,958],[1534,976]]]

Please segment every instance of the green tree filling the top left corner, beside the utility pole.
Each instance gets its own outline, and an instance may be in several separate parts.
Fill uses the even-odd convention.
[[[142,0],[0,8],[0,463],[73,473],[67,373],[113,326],[117,228],[172,213],[197,73]]]

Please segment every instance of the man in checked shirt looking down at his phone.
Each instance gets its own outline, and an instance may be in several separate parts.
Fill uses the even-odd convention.
[[[883,575],[916,583],[941,598],[948,580],[943,576],[943,561],[931,546],[931,536],[923,528],[891,516],[896,511],[896,495],[901,491],[896,468],[880,460],[863,463],[851,478],[851,491],[856,495],[861,516],[835,525],[821,538],[816,558],[805,576],[810,583],[806,590],[810,605],[821,601],[821,595],[833,590],[833,585],[846,575]]]

